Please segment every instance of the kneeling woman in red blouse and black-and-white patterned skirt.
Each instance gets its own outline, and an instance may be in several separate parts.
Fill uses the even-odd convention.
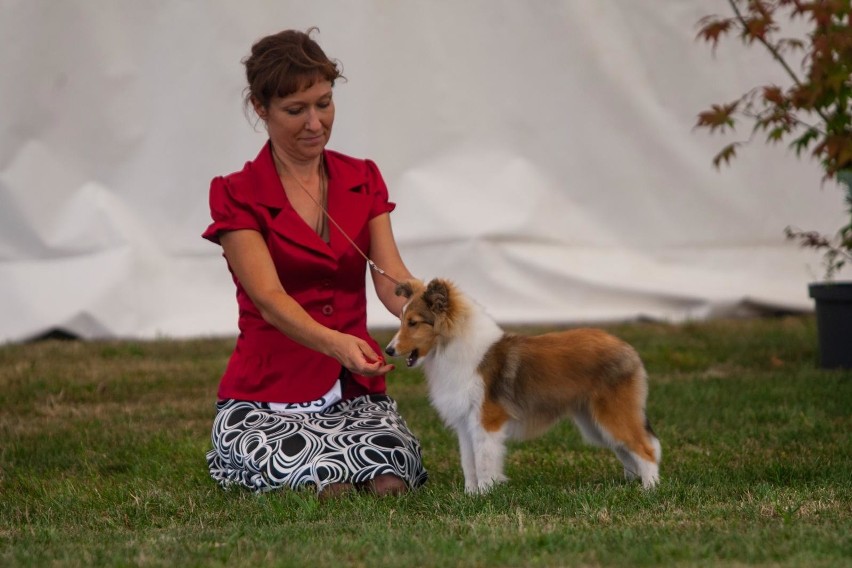
[[[210,187],[213,223],[237,287],[240,334],[219,385],[210,474],[255,491],[314,486],[322,496],[400,494],[426,481],[420,444],[385,394],[393,366],[367,333],[366,256],[394,314],[410,278],[378,168],[326,150],[337,63],[286,30],[243,63],[247,107],[269,140]],[[327,211],[327,213],[326,213]]]

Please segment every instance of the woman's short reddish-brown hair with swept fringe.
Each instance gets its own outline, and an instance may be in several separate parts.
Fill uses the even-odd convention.
[[[248,86],[245,89],[246,109],[256,101],[264,108],[272,97],[286,97],[306,89],[318,80],[346,79],[340,63],[329,59],[319,44],[311,39],[319,28],[306,32],[284,30],[268,35],[251,46],[251,55],[243,59]]]

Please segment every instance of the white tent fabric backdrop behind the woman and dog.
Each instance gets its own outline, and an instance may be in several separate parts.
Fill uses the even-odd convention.
[[[693,131],[784,79],[695,41],[725,6],[0,0],[0,341],[236,333],[209,181],[265,141],[240,60],[312,25],[349,79],[330,147],[378,163],[415,274],[505,323],[809,310],[819,257],[782,230],[839,226],[840,191],[784,147],[716,171],[729,139]]]

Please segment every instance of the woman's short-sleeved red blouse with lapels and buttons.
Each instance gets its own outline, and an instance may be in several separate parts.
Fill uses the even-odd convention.
[[[363,251],[370,250],[370,219],[393,211],[376,165],[325,150],[328,212]],[[315,320],[367,341],[366,261],[329,223],[329,242],[299,217],[278,177],[267,142],[242,171],[210,184],[213,223],[204,238],[219,243],[223,231],[251,229],[263,235],[287,293]],[[231,270],[230,266],[228,267]],[[237,286],[237,344],[219,383],[220,399],[307,402],[329,391],[340,363],[297,343],[266,323],[231,270]],[[353,375],[368,392],[385,392],[385,378]]]

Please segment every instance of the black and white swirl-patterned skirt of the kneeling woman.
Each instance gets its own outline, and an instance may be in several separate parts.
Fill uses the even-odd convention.
[[[426,482],[420,442],[386,395],[343,400],[315,413],[286,414],[239,400],[220,401],[216,410],[207,465],[222,487],[322,491],[384,474],[412,489]]]

